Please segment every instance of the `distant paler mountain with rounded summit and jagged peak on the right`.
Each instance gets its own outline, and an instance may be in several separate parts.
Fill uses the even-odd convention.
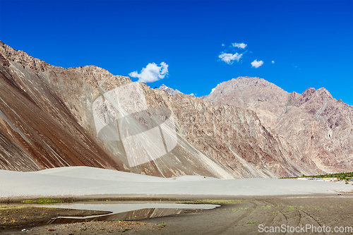
[[[323,171],[353,169],[353,107],[335,100],[325,88],[288,93],[262,78],[241,77],[221,83],[202,98],[252,109],[263,126]]]

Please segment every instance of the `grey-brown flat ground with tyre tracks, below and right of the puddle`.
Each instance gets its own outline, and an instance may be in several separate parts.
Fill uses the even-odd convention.
[[[353,229],[352,194],[196,198],[200,200],[179,199],[179,203],[211,202],[222,206],[213,210],[183,210],[179,215],[133,222],[50,224],[28,227],[28,231],[3,229],[1,234],[353,234],[348,228]],[[260,232],[261,227],[300,229],[307,224],[311,226],[308,231]],[[325,233],[314,232],[314,227],[316,231],[325,227]],[[347,232],[335,233],[335,228]]]

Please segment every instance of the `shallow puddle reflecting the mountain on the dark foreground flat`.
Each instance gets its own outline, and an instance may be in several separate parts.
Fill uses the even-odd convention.
[[[86,217],[55,217],[48,224],[70,223],[70,222],[87,222],[91,220],[138,220],[153,217],[163,217],[168,215],[177,215],[182,210],[210,210],[220,205],[211,204],[176,204],[176,203],[121,203],[116,201],[110,202],[84,202],[84,203],[60,203],[54,205],[33,205],[38,207],[56,207],[68,208],[76,210],[100,210],[111,212],[108,215],[92,215]]]

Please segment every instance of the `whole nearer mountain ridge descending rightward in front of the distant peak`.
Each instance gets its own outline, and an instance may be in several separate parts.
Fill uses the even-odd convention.
[[[148,131],[156,127],[149,119],[162,123],[172,116],[177,144],[172,149],[164,145],[167,153],[150,162],[131,164],[119,138],[98,137],[94,118],[105,122],[113,115],[104,111],[104,94],[131,84],[130,78],[96,66],[51,66],[3,43],[0,54],[0,169],[86,165],[154,176],[199,174],[222,179],[321,172],[300,150],[265,128],[252,110],[169,95],[144,83],[140,86],[146,107],[130,114],[129,120],[135,118],[138,126],[130,129]],[[94,109],[97,99],[103,106]],[[138,99],[131,100],[131,107],[138,105]],[[277,115],[282,109],[271,110]],[[125,123],[132,123],[129,120]],[[142,144],[134,147],[143,146],[146,139],[141,136],[136,141]]]

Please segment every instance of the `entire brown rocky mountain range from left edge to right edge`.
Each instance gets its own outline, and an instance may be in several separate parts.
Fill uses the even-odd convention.
[[[0,169],[220,179],[352,171],[352,121],[353,107],[325,88],[288,93],[241,77],[193,97],[0,43]]]

